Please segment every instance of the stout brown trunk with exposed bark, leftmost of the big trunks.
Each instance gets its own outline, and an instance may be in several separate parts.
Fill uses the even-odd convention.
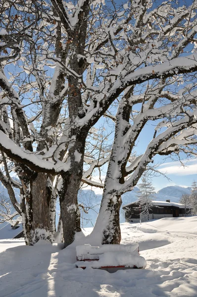
[[[52,242],[49,176],[46,173],[24,172],[19,167],[17,174],[22,184],[20,204],[26,245],[33,246],[40,239]]]

